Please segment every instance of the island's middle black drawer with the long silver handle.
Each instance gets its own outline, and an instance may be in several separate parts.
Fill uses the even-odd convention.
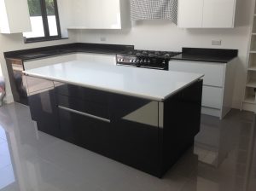
[[[61,110],[66,110],[71,113],[77,113],[94,119],[102,119],[103,121],[108,121],[110,119],[108,105],[84,101],[68,96],[55,96],[57,105]]]

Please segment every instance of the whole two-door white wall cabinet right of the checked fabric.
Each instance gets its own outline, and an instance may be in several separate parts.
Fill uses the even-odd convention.
[[[232,28],[236,0],[178,0],[178,27]]]

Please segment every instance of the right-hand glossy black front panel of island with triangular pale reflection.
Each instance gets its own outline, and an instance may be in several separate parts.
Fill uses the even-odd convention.
[[[113,95],[110,111],[113,159],[156,176],[158,102]]]

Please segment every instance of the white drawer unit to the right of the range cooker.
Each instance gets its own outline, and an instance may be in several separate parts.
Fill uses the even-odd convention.
[[[233,98],[235,65],[230,62],[171,60],[169,70],[204,74],[201,113],[223,119],[230,112]]]

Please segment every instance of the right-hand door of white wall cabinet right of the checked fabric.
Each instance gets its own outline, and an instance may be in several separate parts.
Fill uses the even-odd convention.
[[[235,8],[236,0],[204,0],[202,27],[234,27]]]

